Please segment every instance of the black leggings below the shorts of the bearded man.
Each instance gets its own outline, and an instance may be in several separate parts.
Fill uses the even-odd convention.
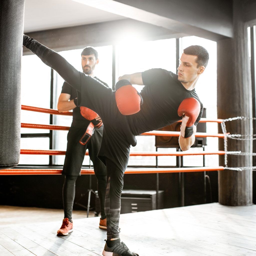
[[[69,176],[65,175],[65,180],[63,184],[62,196],[63,196],[63,209],[64,209],[64,218],[72,219],[72,210],[73,203],[75,198],[75,187],[76,180],[78,176]],[[100,201],[100,209],[101,209],[101,218],[105,219],[105,211],[104,211],[104,201],[105,201],[105,187],[106,187],[106,176],[105,175],[96,175],[98,180],[98,195]]]

